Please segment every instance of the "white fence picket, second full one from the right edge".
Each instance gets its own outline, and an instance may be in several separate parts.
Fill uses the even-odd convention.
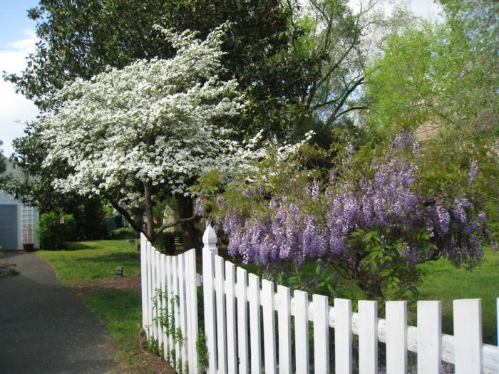
[[[442,304],[418,301],[418,373],[440,374],[442,362]]]

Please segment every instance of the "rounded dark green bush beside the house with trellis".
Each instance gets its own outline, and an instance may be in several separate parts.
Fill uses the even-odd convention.
[[[61,217],[64,217],[64,223],[61,223]],[[64,241],[75,239],[76,219],[73,214],[43,213],[36,234],[41,249],[61,249]]]

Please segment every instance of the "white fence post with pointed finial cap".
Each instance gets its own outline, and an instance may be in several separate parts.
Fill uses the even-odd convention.
[[[215,279],[215,255],[218,254],[217,249],[217,234],[215,230],[208,225],[205,229],[205,234],[202,236],[202,287],[205,304],[205,336],[206,346],[208,348],[208,373],[217,373],[217,348],[215,342],[215,295],[214,295],[214,279]]]

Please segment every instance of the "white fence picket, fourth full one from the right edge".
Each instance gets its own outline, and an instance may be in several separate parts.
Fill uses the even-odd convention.
[[[378,374],[378,303],[359,301],[359,374]]]

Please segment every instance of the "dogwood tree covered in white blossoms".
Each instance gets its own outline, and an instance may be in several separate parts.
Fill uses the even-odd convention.
[[[168,60],[137,61],[110,68],[91,80],[66,85],[63,104],[41,121],[48,144],[45,166],[67,162],[72,170],[53,185],[64,192],[98,194],[143,231],[130,209],[143,206],[150,241],[194,217],[153,228],[153,199],[188,195],[198,175],[217,168],[230,172],[252,160],[220,124],[245,105],[235,80],[220,81],[221,39],[216,28],[205,41],[195,33],[159,28],[177,53]]]

